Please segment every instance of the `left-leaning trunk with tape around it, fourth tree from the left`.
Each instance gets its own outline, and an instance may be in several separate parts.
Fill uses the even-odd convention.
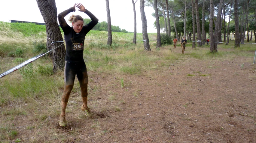
[[[145,0],[140,0],[140,13],[141,13],[141,21],[142,21],[142,36],[144,43],[144,50],[151,51],[149,41],[148,41],[148,25],[147,19],[144,11]]]

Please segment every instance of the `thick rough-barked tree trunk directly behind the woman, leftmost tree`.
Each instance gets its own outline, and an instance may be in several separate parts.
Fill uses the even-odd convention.
[[[60,44],[56,41],[63,41],[59,25],[57,22],[57,8],[55,0],[36,0],[38,8],[43,16],[44,23],[46,26],[47,39],[47,50],[52,50],[58,47]],[[50,44],[52,42],[56,42]],[[50,58],[53,62],[53,72],[56,73],[58,69],[64,69],[66,50],[64,44],[59,48],[56,48],[50,52]]]

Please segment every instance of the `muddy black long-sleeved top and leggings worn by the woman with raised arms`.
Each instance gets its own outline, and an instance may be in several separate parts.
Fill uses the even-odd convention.
[[[88,75],[86,65],[84,63],[84,39],[86,34],[98,23],[98,19],[88,10],[85,13],[91,18],[91,22],[83,26],[79,33],[76,33],[73,30],[73,27],[70,27],[65,21],[64,17],[75,11],[74,7],[69,8],[68,10],[59,13],[58,20],[60,27],[64,32],[64,38],[66,41],[66,57],[65,57],[65,91],[62,95],[62,102],[67,103],[69,100],[70,92],[74,86],[75,75],[77,75],[80,87],[81,87],[81,96],[86,97],[87,102],[87,84],[88,84]],[[62,109],[65,112],[66,107]]]

